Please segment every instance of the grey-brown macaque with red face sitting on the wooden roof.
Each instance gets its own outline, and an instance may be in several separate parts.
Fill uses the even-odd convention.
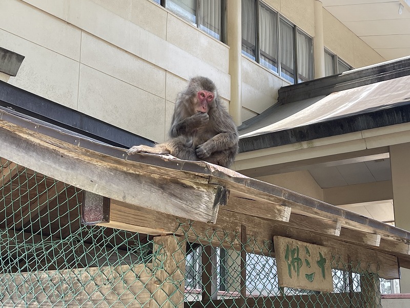
[[[238,130],[221,106],[215,84],[197,76],[178,94],[170,138],[150,147],[135,145],[128,154],[171,154],[183,160],[204,160],[229,167],[238,152]]]

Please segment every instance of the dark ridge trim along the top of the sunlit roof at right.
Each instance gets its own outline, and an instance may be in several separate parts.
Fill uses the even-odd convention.
[[[353,89],[376,82],[407,76],[410,74],[410,57],[347,71],[278,90],[278,103],[288,104],[333,92]]]

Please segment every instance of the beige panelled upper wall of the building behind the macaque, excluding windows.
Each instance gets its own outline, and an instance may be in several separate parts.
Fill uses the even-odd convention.
[[[265,3],[314,36],[313,0]],[[1,74],[3,81],[157,142],[167,138],[176,93],[190,77],[209,76],[229,106],[229,47],[151,0],[0,4],[0,46],[26,56],[18,75]],[[323,19],[325,46],[343,60],[383,61],[325,10]],[[244,121],[289,83],[245,56],[241,66]]]

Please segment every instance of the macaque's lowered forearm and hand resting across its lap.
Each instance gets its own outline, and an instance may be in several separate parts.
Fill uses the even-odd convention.
[[[238,144],[237,132],[221,132],[210,140],[196,147],[196,155],[200,159],[211,156],[213,152],[230,149]]]

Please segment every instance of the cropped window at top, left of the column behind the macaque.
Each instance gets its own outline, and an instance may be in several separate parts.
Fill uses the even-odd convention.
[[[224,42],[226,0],[154,0],[154,2]]]

